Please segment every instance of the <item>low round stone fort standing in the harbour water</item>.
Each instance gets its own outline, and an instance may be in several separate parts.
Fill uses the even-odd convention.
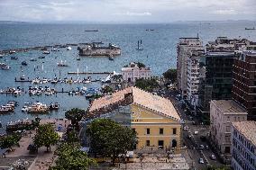
[[[99,44],[102,42],[93,42],[88,44],[86,47],[80,48],[80,56],[117,56],[121,55],[121,49],[114,44],[109,44],[108,47],[100,47]]]

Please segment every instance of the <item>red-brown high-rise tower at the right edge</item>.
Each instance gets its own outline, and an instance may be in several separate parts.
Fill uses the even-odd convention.
[[[238,51],[233,62],[232,97],[256,121],[256,51]]]

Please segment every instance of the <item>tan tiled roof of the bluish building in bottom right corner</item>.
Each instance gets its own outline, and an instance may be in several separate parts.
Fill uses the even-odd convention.
[[[233,127],[256,146],[256,121],[233,122]]]

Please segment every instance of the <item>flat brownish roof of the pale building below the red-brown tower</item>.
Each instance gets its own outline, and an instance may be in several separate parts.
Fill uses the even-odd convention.
[[[211,103],[214,103],[224,114],[247,114],[246,110],[233,100],[213,100]]]

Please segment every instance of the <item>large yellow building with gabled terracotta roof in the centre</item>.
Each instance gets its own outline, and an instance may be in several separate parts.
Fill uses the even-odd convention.
[[[180,149],[180,117],[168,99],[136,87],[128,87],[96,99],[88,108],[88,112],[88,116],[91,117],[109,116],[112,112],[115,121],[131,126],[137,132],[136,148],[138,149],[176,148],[176,151]]]

